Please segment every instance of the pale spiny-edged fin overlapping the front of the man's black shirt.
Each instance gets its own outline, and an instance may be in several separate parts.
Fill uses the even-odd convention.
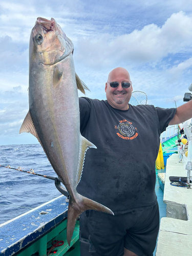
[[[82,175],[82,168],[84,164],[84,158],[86,156],[86,151],[88,148],[93,147],[97,148],[93,143],[91,143],[89,140],[81,136],[81,143],[80,143],[80,151],[79,151],[79,162],[77,167],[77,175],[76,175],[76,186],[78,185],[81,175]]]

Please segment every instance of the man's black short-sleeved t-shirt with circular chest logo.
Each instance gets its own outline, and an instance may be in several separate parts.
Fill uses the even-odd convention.
[[[97,149],[86,153],[78,193],[116,214],[154,205],[160,134],[176,109],[129,105],[121,111],[86,97],[79,106],[81,134]]]

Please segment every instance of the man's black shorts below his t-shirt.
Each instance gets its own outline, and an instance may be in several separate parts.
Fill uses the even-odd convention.
[[[159,206],[120,215],[85,211],[80,216],[81,256],[153,256],[159,231]]]

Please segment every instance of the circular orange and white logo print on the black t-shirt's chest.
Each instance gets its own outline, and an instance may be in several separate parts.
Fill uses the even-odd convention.
[[[117,135],[124,140],[133,140],[139,135],[137,128],[132,125],[132,122],[126,119],[120,120],[119,125],[115,125],[115,129],[119,130]]]

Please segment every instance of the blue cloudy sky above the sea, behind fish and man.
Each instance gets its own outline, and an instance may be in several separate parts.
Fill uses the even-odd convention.
[[[109,72],[123,67],[133,91],[146,93],[147,104],[184,103],[192,83],[192,0],[2,0],[0,145],[38,143],[31,134],[19,134],[29,109],[29,38],[37,17],[53,17],[73,41],[87,97],[105,99]]]

